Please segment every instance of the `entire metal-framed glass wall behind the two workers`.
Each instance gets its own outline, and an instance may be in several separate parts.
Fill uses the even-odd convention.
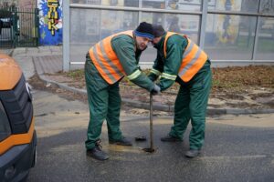
[[[187,35],[201,44],[213,61],[248,63],[274,57],[274,0],[207,0],[206,8],[203,0],[70,0],[70,3],[73,3],[69,29],[71,62],[83,62],[90,46],[108,35],[135,29],[142,21]],[[149,46],[142,53],[141,65],[153,63],[155,55],[155,49]]]

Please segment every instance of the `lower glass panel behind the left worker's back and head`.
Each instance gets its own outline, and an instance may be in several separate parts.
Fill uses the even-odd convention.
[[[101,39],[138,24],[138,12],[70,9],[70,60],[83,62],[92,45]]]

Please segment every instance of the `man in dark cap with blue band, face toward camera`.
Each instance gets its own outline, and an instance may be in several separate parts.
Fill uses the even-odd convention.
[[[134,31],[108,36],[90,48],[86,56],[85,78],[90,106],[87,155],[98,160],[109,156],[101,150],[100,134],[107,120],[109,143],[132,146],[120,129],[121,96],[119,82],[127,76],[137,86],[153,94],[160,87],[145,76],[138,66],[142,51],[153,40],[153,26],[142,22]]]

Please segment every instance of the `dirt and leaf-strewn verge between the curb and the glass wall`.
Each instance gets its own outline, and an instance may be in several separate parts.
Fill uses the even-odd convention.
[[[238,108],[274,108],[274,66],[245,66],[213,68],[213,86],[209,106]],[[144,70],[147,74],[149,70]],[[58,72],[46,75],[48,79],[65,83],[80,89],[86,89],[83,69],[70,72]],[[78,99],[87,103],[87,96],[68,92],[56,86],[45,86],[33,76],[31,85],[37,89],[48,90],[68,99]],[[174,106],[179,85],[174,84],[160,96],[153,96],[153,103]],[[120,84],[122,98],[149,103],[146,90],[122,79]],[[125,108],[126,109],[126,108]],[[137,112],[137,111],[136,111]],[[138,111],[140,112],[140,111]],[[137,113],[138,113],[137,112]]]

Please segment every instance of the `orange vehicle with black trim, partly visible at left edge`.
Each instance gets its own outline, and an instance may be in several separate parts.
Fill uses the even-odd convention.
[[[16,61],[0,53],[0,181],[24,181],[35,166],[32,96]]]

